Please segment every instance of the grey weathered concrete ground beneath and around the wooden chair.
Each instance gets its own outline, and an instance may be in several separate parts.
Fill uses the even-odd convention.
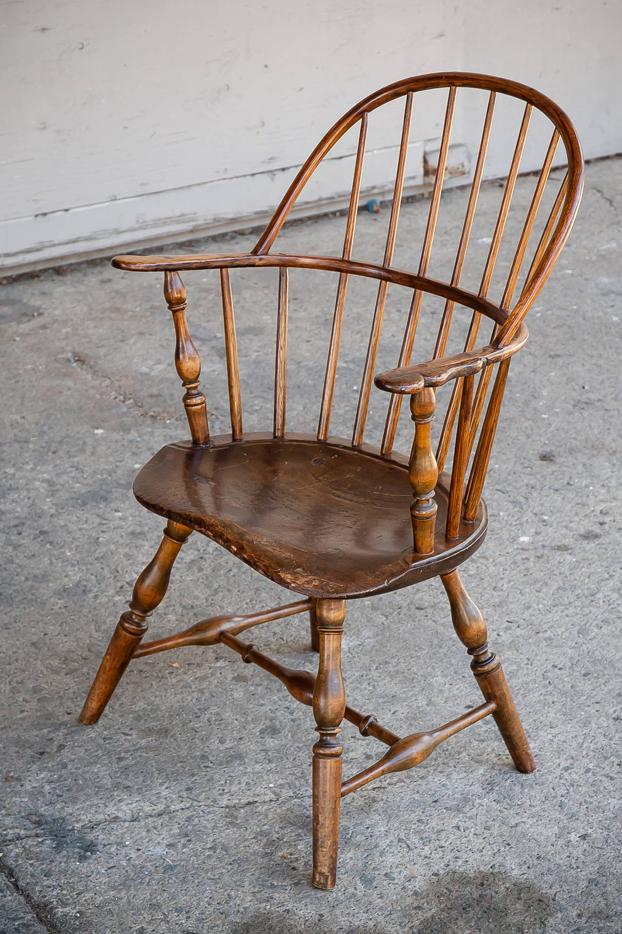
[[[519,179],[523,209],[532,185]],[[484,186],[479,269],[499,197]],[[464,204],[463,191],[448,192],[442,217]],[[396,264],[416,268],[427,205],[404,205]],[[187,436],[173,329],[157,275],[92,262],[4,284],[2,934],[622,930],[621,212],[622,161],[589,165],[579,219],[510,371],[486,488],[491,527],[463,574],[538,771],[513,770],[487,719],[418,769],[368,785],[343,803],[331,892],[310,884],[311,712],[265,672],[224,646],[137,660],[100,723],[77,723],[159,542],[162,520],[133,500],[132,477]],[[357,258],[380,259],[386,219],[361,214]],[[281,249],[335,253],[342,221],[292,226]],[[448,224],[432,275],[447,274]],[[252,239],[191,248],[242,251]],[[272,272],[233,276],[249,429],[271,425]],[[292,276],[288,415],[303,430],[317,417],[335,286],[310,276]],[[226,431],[217,274],[186,280],[211,423]],[[477,288],[475,274],[465,282]],[[352,419],[373,286],[352,282],[350,295],[358,317],[344,326],[336,433]],[[406,302],[390,293],[378,369],[394,361]],[[430,353],[426,327],[417,359]],[[371,441],[382,404],[374,390]],[[280,601],[283,590],[195,535],[152,637]],[[304,616],[253,639],[293,667],[316,663]],[[401,735],[479,702],[438,581],[353,603],[344,674],[352,706]],[[344,774],[380,756],[350,725],[343,735]]]

